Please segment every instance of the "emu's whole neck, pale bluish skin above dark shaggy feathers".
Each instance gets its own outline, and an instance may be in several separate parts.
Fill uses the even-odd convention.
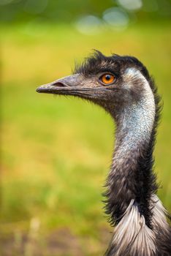
[[[112,224],[119,222],[134,200],[150,226],[149,199],[156,189],[152,173],[155,102],[147,80],[142,79],[141,99],[123,108],[116,121],[115,151],[106,194]]]

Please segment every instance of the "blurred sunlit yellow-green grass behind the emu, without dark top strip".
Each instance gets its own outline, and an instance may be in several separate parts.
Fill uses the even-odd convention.
[[[164,100],[155,170],[159,197],[171,211],[170,24],[106,28],[94,36],[69,26],[20,25],[1,27],[1,34],[1,233],[27,232],[31,219],[38,218],[42,233],[68,227],[81,239],[88,236],[92,246],[84,239],[83,255],[102,255],[105,249],[101,194],[113,122],[80,99],[35,92],[39,84],[69,75],[75,60],[93,48],[136,56],[155,77]]]

